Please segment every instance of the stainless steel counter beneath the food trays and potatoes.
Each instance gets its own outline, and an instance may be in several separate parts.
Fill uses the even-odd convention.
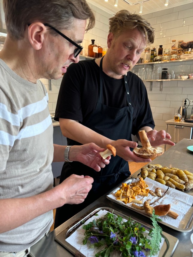
[[[189,170],[193,173],[193,152],[187,149],[187,146],[193,145],[193,140],[191,139],[183,139],[175,146],[171,147],[166,153],[162,156],[157,157],[153,164],[162,164],[164,166],[169,167],[180,167],[183,170]],[[137,171],[131,177],[137,178]],[[124,215],[131,216],[134,219],[141,220],[147,224],[151,224],[151,220],[148,217],[142,216],[140,213],[137,213],[133,210],[125,208],[124,206],[118,205],[110,200],[108,200],[105,196],[97,199],[95,202],[90,204],[81,212],[77,213],[71,219],[63,223],[61,226],[53,230],[47,236],[42,238],[38,243],[36,243],[30,250],[30,257],[72,257],[74,256],[67,249],[65,249],[61,244],[55,241],[54,237],[59,232],[63,231],[65,228],[75,223],[82,216],[90,213],[91,210],[95,210],[97,207],[110,207],[114,210],[118,210],[120,213]],[[68,210],[67,210],[68,211]],[[179,239],[179,243],[173,253],[172,256],[175,257],[185,257],[190,256],[190,249],[193,248],[193,245],[190,241],[190,235],[193,231],[190,232],[178,232],[177,230],[173,230],[163,224],[160,224],[163,231],[173,235]]]

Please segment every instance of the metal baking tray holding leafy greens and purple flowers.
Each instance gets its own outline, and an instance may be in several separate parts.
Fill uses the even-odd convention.
[[[60,231],[59,233],[57,233],[57,231],[56,231],[55,240],[58,241],[60,244],[62,244],[62,246],[67,248],[76,257],[86,257],[84,254],[80,253],[76,248],[74,248],[71,244],[69,244],[65,239],[68,238],[73,232],[75,232],[82,224],[84,224],[86,220],[88,220],[89,218],[92,218],[97,212],[99,212],[99,210],[106,210],[110,213],[119,215],[122,218],[125,218],[127,220],[129,219],[129,216],[126,216],[126,215],[118,212],[117,210],[114,210],[109,207],[99,207],[99,208],[91,211],[88,215],[82,216],[75,224],[74,223],[71,224],[70,226],[64,228],[64,230]],[[152,228],[151,225],[144,223],[140,220],[132,219],[132,218],[131,218],[131,220],[141,223],[143,225],[143,227],[145,227],[145,229],[148,231]],[[160,249],[160,253],[159,253],[158,257],[170,257],[173,254],[175,248],[177,247],[179,240],[178,240],[178,238],[171,236],[170,234],[168,234],[164,231],[163,231],[162,237],[165,240]],[[89,256],[89,257],[94,257],[94,256]]]

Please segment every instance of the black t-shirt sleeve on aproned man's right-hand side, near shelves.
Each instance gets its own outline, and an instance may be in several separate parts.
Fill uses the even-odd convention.
[[[147,127],[151,127],[152,129],[154,129],[155,127],[146,87],[140,78],[138,83],[139,83],[139,89],[137,94],[139,99],[139,106],[138,106],[136,116],[133,119],[133,127],[132,127],[133,135],[136,135],[136,133],[142,127],[147,126]]]

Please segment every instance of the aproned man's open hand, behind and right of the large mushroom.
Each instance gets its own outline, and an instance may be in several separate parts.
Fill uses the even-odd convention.
[[[163,144],[169,144],[171,146],[175,145],[174,142],[171,140],[171,136],[169,133],[166,133],[165,130],[160,130],[159,132],[157,130],[150,130],[147,133],[149,142],[151,146],[157,147]]]

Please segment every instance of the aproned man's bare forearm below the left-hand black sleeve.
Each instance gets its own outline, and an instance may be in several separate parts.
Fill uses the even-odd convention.
[[[77,121],[70,119],[59,119],[63,136],[71,138],[81,144],[95,143],[99,147],[106,148],[113,140],[96,133]]]

